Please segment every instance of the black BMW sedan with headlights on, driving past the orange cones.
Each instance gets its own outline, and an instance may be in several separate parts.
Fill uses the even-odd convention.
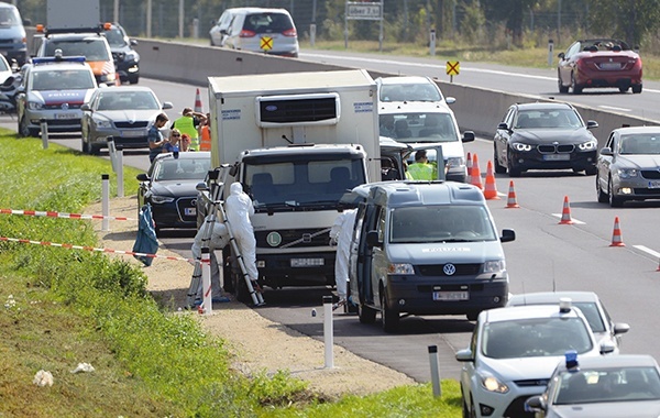
[[[518,177],[528,169],[573,169],[596,174],[598,142],[569,103],[516,103],[509,107],[494,138],[495,173]]]

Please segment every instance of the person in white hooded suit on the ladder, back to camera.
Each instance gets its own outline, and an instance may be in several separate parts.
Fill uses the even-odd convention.
[[[252,282],[256,282],[258,277],[256,239],[254,238],[252,222],[250,222],[250,217],[254,215],[254,206],[252,206],[252,199],[243,191],[243,186],[240,183],[232,183],[229,191],[229,197],[224,200],[224,212],[227,213],[229,228],[231,228],[243,256],[248,276]]]

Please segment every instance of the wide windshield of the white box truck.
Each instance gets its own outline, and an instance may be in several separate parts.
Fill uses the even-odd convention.
[[[254,160],[258,163],[258,160]],[[363,161],[299,160],[245,164],[245,186],[255,209],[337,206],[353,187],[366,183]]]

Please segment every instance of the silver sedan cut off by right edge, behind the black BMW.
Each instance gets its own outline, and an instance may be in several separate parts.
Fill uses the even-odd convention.
[[[660,199],[660,127],[612,131],[598,155],[596,194],[612,207]]]

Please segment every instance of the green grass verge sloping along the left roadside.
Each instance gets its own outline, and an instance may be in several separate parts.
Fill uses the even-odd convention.
[[[80,212],[101,196],[110,162],[0,130],[0,208]],[[145,156],[146,157],[146,156]],[[136,169],[125,168],[124,190]],[[0,235],[97,244],[88,221],[0,215]],[[458,383],[429,384],[327,403],[280,371],[250,378],[229,367],[224,341],[195,314],[169,312],[146,277],[103,254],[0,241],[0,417],[457,417]],[[92,373],[72,374],[78,363]],[[40,370],[52,387],[32,383]]]

